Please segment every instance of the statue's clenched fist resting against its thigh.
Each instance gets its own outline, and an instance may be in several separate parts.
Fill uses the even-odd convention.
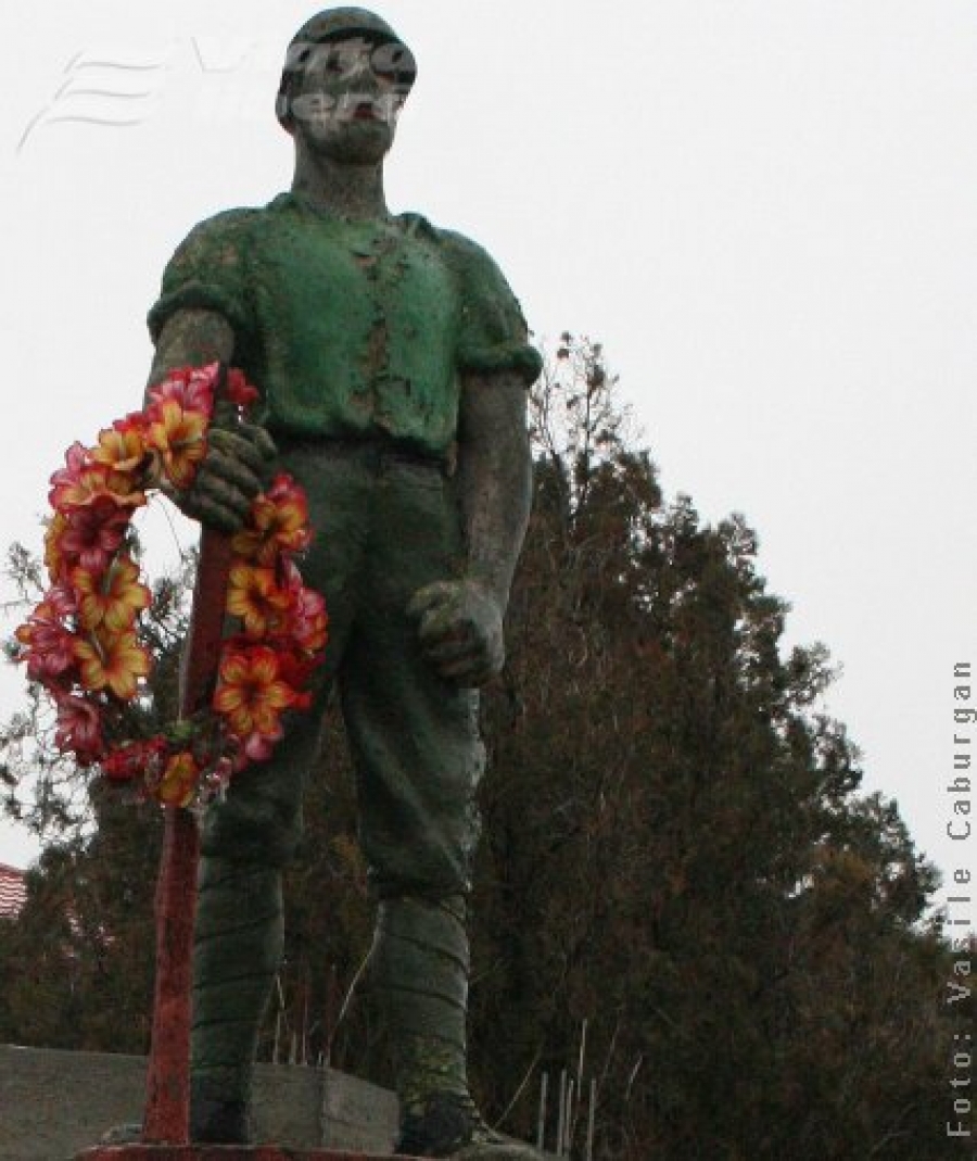
[[[407,615],[418,622],[425,657],[446,680],[484,685],[506,659],[502,608],[478,580],[439,580],[414,593]]]

